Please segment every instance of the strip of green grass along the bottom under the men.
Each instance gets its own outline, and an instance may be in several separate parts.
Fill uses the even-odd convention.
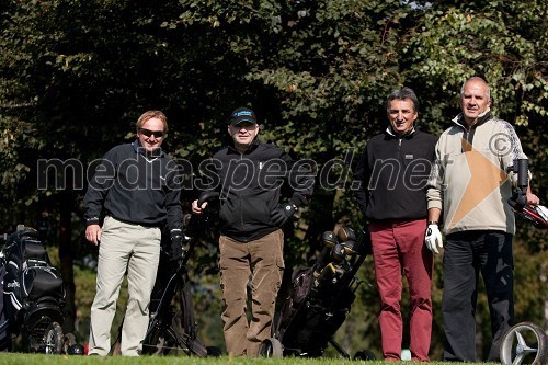
[[[390,364],[406,364],[407,362]],[[171,365],[171,364],[184,364],[184,365],[231,365],[231,364],[253,364],[253,365],[350,365],[350,364],[367,364],[367,365],[380,365],[388,364],[383,361],[351,361],[343,358],[333,357],[321,357],[321,358],[295,358],[295,357],[283,357],[283,358],[248,358],[248,357],[190,357],[190,356],[141,356],[141,357],[122,357],[122,356],[67,356],[67,355],[42,355],[42,354],[22,354],[22,353],[5,353],[0,354],[0,365],[93,365],[93,364],[107,364],[107,365]],[[411,364],[411,363],[409,363]],[[431,365],[448,365],[455,363],[445,362],[431,362]],[[470,364],[470,363],[469,363]],[[488,364],[488,363],[473,363],[473,364]],[[495,364],[495,363],[491,363]],[[499,364],[500,365],[500,364]]]

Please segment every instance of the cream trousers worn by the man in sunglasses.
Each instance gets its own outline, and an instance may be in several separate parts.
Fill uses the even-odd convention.
[[[106,217],[99,246],[96,294],[91,306],[89,354],[105,356],[116,300],[127,270],[128,301],[122,329],[122,355],[138,356],[147,332],[150,293],[160,258],[161,230]]]

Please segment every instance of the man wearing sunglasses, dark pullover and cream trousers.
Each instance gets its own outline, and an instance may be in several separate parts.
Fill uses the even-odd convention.
[[[126,271],[129,298],[121,351],[123,356],[139,355],[165,225],[171,235],[172,260],[182,254],[178,170],[161,149],[168,119],[160,111],[148,111],[138,118],[136,127],[137,139],[106,152],[85,193],[85,239],[99,246],[90,355],[109,354],[112,321]],[[102,226],[100,217],[104,217]]]

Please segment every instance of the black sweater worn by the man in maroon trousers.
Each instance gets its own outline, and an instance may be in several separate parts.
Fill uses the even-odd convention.
[[[387,129],[367,142],[352,184],[366,219],[411,220],[427,216],[425,186],[436,140],[420,130],[398,137]]]

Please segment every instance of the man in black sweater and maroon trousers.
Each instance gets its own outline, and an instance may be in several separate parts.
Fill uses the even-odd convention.
[[[355,194],[369,220],[380,295],[383,355],[389,361],[401,360],[400,299],[404,272],[411,294],[411,356],[427,361],[433,258],[423,241],[427,216],[425,186],[436,138],[414,128],[419,101],[411,89],[392,92],[386,106],[390,125],[367,142],[354,174],[358,186]]]

